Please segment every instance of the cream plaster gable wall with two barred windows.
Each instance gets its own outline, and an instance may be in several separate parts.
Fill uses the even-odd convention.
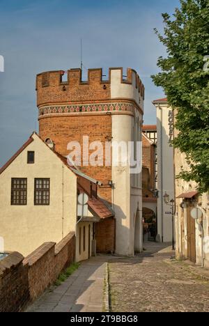
[[[0,175],[0,236],[6,251],[24,256],[75,231],[77,215],[77,177],[36,134],[33,139]],[[27,164],[28,150],[35,151],[35,164]],[[11,178],[27,178],[27,205],[10,205]],[[34,205],[34,178],[50,178],[50,205]]]

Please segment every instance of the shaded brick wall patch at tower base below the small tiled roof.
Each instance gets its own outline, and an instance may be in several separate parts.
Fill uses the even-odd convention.
[[[115,251],[115,233],[116,219],[113,217],[102,219],[96,224],[95,238],[97,240],[98,253],[109,254],[111,251]]]

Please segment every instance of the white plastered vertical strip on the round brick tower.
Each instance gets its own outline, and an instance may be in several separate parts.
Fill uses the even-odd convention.
[[[133,84],[121,83],[121,70],[111,70],[111,99],[130,98],[135,100],[144,108],[143,99],[135,87],[135,73],[133,72]],[[134,116],[113,115],[112,116],[112,137],[113,141],[120,143],[134,141],[134,123],[142,121],[141,113],[135,109]],[[138,135],[140,136],[141,130]],[[142,160],[142,157],[141,157]],[[134,255],[134,235],[137,208],[139,207],[139,242],[137,251],[142,250],[142,196],[141,196],[141,173],[138,175],[130,174],[130,166],[112,166],[112,180],[115,189],[112,193],[114,211],[116,214],[116,254]]]

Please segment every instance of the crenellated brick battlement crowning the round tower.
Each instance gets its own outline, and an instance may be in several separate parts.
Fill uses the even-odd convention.
[[[65,74],[66,80],[63,79]],[[135,98],[138,93],[137,102],[144,101],[144,85],[137,72],[130,68],[127,68],[126,76],[123,75],[123,68],[109,68],[107,80],[103,79],[102,68],[88,69],[87,81],[82,81],[82,70],[79,68],[67,72],[42,72],[36,77],[38,107],[61,102],[111,100],[111,89],[120,84],[129,85],[129,88],[132,86]]]

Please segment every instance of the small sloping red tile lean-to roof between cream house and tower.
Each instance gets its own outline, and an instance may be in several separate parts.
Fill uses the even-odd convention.
[[[77,189],[79,193],[85,192],[81,185],[77,185]],[[88,196],[88,208],[91,210],[95,215],[100,217],[100,219],[106,219],[107,217],[113,217],[114,214],[111,212],[106,205],[104,205],[103,201],[99,198],[95,198],[92,196],[91,198]]]

